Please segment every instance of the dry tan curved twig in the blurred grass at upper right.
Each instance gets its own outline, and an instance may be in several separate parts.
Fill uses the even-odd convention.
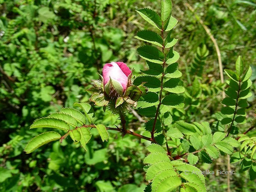
[[[195,10],[191,7],[190,4],[184,3],[184,5],[187,6],[189,8],[189,10],[195,14]],[[222,67],[222,61],[221,61],[221,55],[220,55],[218,43],[217,43],[216,39],[214,38],[214,36],[211,34],[210,29],[204,24],[204,22],[200,19],[200,17],[197,14],[195,14],[195,18],[203,26],[207,35],[210,37],[210,39],[212,40],[212,42],[214,44],[214,47],[216,49],[217,56],[218,56],[220,82],[223,84],[224,83],[223,67]],[[222,91],[222,96],[225,97],[224,91]]]

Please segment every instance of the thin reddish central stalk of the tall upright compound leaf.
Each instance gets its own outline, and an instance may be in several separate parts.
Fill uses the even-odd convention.
[[[164,50],[165,50],[165,45],[164,45],[164,24],[162,22],[162,29],[161,29],[161,37],[163,39],[163,45],[162,45],[162,52],[164,54],[164,60],[163,60],[163,69],[165,67],[165,60],[166,60],[166,55],[164,53]],[[164,80],[164,70],[162,72],[162,77],[161,77],[161,89],[159,91],[159,104],[158,104],[158,108],[157,108],[157,111],[156,111],[156,116],[155,116],[155,120],[154,120],[154,123],[153,123],[153,128],[152,128],[152,131],[151,131],[151,138],[153,141],[155,141],[155,137],[154,137],[154,132],[155,132],[155,127],[156,127],[156,123],[157,123],[157,119],[158,119],[158,113],[159,113],[159,110],[160,110],[160,106],[162,104],[162,91],[163,91],[163,80]]]

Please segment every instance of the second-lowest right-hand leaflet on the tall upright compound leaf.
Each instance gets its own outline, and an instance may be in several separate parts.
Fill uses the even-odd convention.
[[[163,89],[171,93],[184,93],[183,81],[179,78],[172,78],[163,84]]]

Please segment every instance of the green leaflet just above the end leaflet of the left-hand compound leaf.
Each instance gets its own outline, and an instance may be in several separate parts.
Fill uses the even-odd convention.
[[[30,126],[30,129],[34,128],[55,128],[61,129],[65,131],[69,131],[69,125],[63,120],[57,120],[53,118],[41,118],[34,121],[34,123]]]

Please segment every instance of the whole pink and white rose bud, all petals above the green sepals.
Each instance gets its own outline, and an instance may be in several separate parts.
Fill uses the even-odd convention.
[[[105,85],[111,80],[115,80],[122,85],[122,92],[127,88],[128,76],[131,74],[131,70],[123,62],[111,62],[104,65],[103,74],[103,84]]]

